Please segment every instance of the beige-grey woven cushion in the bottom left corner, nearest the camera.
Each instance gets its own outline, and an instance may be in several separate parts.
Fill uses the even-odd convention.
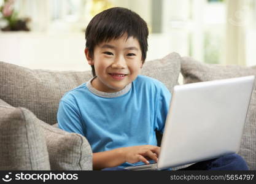
[[[0,170],[50,170],[47,147],[36,117],[0,99]]]

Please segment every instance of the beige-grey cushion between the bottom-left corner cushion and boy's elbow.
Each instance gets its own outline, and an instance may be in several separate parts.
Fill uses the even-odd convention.
[[[85,137],[38,120],[43,128],[52,170],[92,170],[91,147]]]

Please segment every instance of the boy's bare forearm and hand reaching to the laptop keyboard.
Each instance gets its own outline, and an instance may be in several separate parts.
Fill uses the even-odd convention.
[[[149,164],[147,159],[153,159],[157,162],[159,151],[160,147],[141,145],[93,153],[93,169],[115,167],[125,162],[137,163],[142,161],[145,164]]]

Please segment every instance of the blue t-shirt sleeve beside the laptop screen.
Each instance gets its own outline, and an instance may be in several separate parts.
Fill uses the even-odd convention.
[[[171,101],[171,93],[162,83],[160,84],[160,91],[158,91],[158,98],[156,102],[156,121],[155,130],[163,134],[165,129],[165,120],[169,110],[169,103]]]

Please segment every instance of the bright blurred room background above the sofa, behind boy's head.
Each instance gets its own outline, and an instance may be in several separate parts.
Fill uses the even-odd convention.
[[[117,6],[147,22],[146,61],[177,52],[203,63],[256,65],[256,0],[0,0],[0,61],[88,70],[85,28]]]

